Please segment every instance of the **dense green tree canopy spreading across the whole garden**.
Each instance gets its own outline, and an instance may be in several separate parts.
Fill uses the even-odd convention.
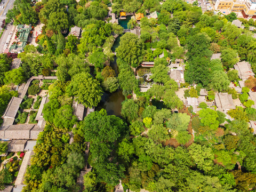
[[[34,79],[21,97],[14,124],[37,124],[47,95],[22,191],[256,191],[253,19],[181,0],[15,0],[6,16],[43,27],[36,46],[0,54],[1,115],[17,85],[57,76]],[[74,26],[81,35],[69,34]],[[21,66],[11,69],[14,58]],[[119,114],[97,108],[118,91]],[[78,119],[74,102],[93,110]],[[1,189],[14,185],[22,153],[1,165]]]

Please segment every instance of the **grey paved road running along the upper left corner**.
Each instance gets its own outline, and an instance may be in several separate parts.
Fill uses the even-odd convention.
[[[4,9],[0,9],[0,25],[2,25],[2,21],[6,19],[5,13],[8,12],[8,10],[13,8],[13,3],[15,0],[2,0],[0,6],[4,5]],[[3,4],[4,2],[4,4]],[[13,25],[12,23],[9,23],[9,25],[6,26],[4,33],[0,39],[0,53],[4,52],[4,45],[6,45],[6,41],[9,41],[9,34],[12,33]]]

